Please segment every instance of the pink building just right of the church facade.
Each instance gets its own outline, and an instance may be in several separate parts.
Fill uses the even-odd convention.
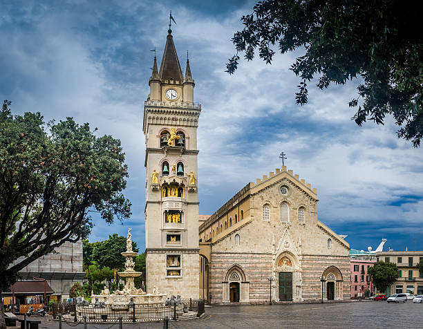
[[[351,298],[370,297],[375,292],[375,287],[367,272],[373,263],[375,261],[351,259]]]

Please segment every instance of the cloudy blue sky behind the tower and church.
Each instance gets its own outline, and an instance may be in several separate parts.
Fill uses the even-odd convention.
[[[185,63],[189,50],[203,106],[198,127],[200,214],[212,214],[247,182],[281,167],[316,187],[319,220],[348,234],[355,249],[423,250],[423,153],[399,140],[391,118],[359,127],[348,101],[357,81],[321,92],[297,106],[299,79],[288,70],[301,50],[272,65],[242,62],[230,39],[254,1],[0,1],[0,97],[12,111],[40,111],[46,120],[72,116],[100,134],[120,138],[129,165],[126,197],[133,215],[123,225],[95,220],[91,241],[113,232],[144,248],[144,135],[142,115],[153,64],[173,40]],[[185,69],[185,64],[183,65]]]

